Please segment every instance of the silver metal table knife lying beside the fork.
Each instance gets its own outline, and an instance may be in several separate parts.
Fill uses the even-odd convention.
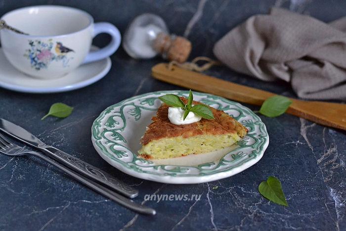
[[[43,153],[47,154],[49,157],[54,158],[60,163],[67,165],[76,172],[81,173],[84,176],[93,179],[94,181],[107,185],[110,188],[124,194],[125,196],[133,198],[138,195],[138,190],[132,188],[129,185],[126,185],[122,181],[114,178],[101,169],[98,169],[84,162],[83,160],[67,154],[66,152],[63,152],[55,147],[45,144],[43,141],[35,137],[33,134],[29,133],[22,127],[19,127],[18,125],[15,125],[2,118],[0,118],[0,131],[8,134],[15,139],[36,147]]]

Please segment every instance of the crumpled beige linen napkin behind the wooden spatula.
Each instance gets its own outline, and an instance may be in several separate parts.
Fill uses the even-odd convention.
[[[326,24],[272,8],[227,33],[214,53],[238,72],[291,82],[299,97],[346,100],[345,32],[346,17]]]

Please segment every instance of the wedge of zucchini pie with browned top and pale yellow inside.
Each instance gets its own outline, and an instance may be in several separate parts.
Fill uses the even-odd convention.
[[[186,103],[187,99],[180,97]],[[194,105],[201,104],[193,101]],[[169,106],[163,103],[141,139],[139,157],[166,159],[201,154],[229,147],[244,137],[248,130],[223,111],[209,107],[214,119],[174,125],[168,119]]]

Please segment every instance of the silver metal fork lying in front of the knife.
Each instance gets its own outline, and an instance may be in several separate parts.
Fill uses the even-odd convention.
[[[50,164],[54,165],[55,167],[61,169],[68,175],[70,175],[72,178],[76,179],[80,183],[90,187],[91,189],[95,190],[96,192],[102,194],[105,197],[108,197],[117,203],[125,206],[126,208],[129,208],[135,212],[142,213],[142,214],[148,214],[148,215],[155,215],[156,211],[154,209],[151,209],[149,207],[146,207],[142,204],[137,204],[133,200],[130,200],[112,190],[109,188],[106,188],[102,185],[97,184],[96,182],[93,182],[92,180],[84,177],[83,175],[67,168],[66,166],[56,162],[55,160],[41,154],[40,152],[31,151],[29,149],[26,149],[24,147],[21,147],[15,143],[11,143],[7,139],[5,139],[0,134],[0,153],[9,155],[9,156],[23,156],[23,155],[35,155],[43,160],[49,162]]]

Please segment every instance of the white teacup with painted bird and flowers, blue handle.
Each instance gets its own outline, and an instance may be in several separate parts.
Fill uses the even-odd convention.
[[[87,12],[66,6],[31,6],[1,17],[6,24],[29,35],[0,30],[2,50],[18,70],[34,77],[61,77],[79,65],[113,54],[119,47],[119,30],[107,22],[94,23]],[[91,51],[92,39],[100,33],[112,37],[109,45]]]

